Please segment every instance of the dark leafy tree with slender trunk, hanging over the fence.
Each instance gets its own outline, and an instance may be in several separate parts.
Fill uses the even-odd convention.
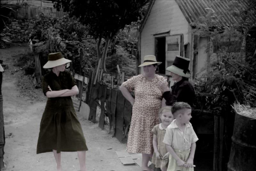
[[[97,56],[102,58],[101,68],[106,71],[106,56],[110,41],[125,25],[137,21],[140,9],[149,0],[52,0],[57,10],[63,8],[70,16],[88,26],[88,32],[97,41]],[[104,48],[100,49],[102,38]]]

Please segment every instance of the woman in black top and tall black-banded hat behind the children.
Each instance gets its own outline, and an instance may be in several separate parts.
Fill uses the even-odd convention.
[[[162,89],[164,89],[163,98],[166,100],[166,105],[172,105],[175,102],[186,102],[193,106],[195,99],[195,91],[192,84],[188,81],[190,73],[188,70],[189,59],[182,56],[176,56],[172,66],[167,67],[166,70],[171,72],[172,80],[175,81],[171,87],[172,91],[159,82]]]

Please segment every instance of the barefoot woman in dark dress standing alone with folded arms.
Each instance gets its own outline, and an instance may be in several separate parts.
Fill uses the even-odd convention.
[[[86,171],[85,151],[88,149],[71,99],[79,91],[71,73],[65,71],[69,62],[60,52],[50,53],[43,67],[52,70],[44,75],[42,81],[43,92],[48,99],[41,119],[36,153],[53,152],[57,170],[61,171],[60,152],[77,151],[80,170]]]

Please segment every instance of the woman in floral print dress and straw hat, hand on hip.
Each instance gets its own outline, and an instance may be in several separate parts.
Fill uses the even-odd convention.
[[[156,57],[147,55],[139,67],[143,67],[143,74],[133,76],[120,86],[124,97],[132,104],[132,121],[128,135],[127,151],[142,153],[142,170],[150,171],[148,161],[152,156],[154,125],[158,124],[158,110],[162,107],[163,90],[158,82],[168,83],[166,78],[155,74],[157,65]],[[130,94],[134,91],[135,98]]]

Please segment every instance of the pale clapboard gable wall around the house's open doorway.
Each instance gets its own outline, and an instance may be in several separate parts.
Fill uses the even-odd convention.
[[[184,44],[191,41],[191,26],[181,12],[175,0],[155,1],[141,30],[140,61],[145,55],[155,55],[155,36],[159,32],[170,30],[170,35],[183,34]],[[191,43],[190,43],[191,44]],[[192,53],[190,53],[191,56]],[[141,68],[140,73],[143,72]]]

